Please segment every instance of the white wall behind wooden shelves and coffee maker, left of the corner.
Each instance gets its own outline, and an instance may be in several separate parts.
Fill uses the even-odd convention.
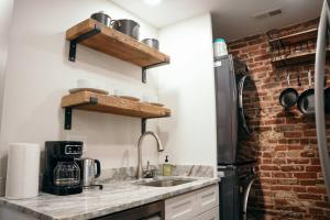
[[[6,174],[9,143],[43,145],[44,141],[66,140],[68,135],[87,136],[85,155],[99,158],[103,168],[136,165],[140,119],[74,111],[73,130],[63,129],[61,98],[76,86],[77,79],[96,79],[109,89],[120,87],[136,94],[157,94],[157,78],[152,70],[147,85],[143,85],[140,67],[81,45],[78,45],[77,62],[68,62],[66,30],[100,10],[114,19],[140,22],[141,38],[157,36],[157,30],[109,0],[15,0],[1,124],[0,176]],[[155,130],[153,124],[156,122],[148,123],[148,128]],[[144,158],[156,164],[158,153],[150,140],[143,147]]]

